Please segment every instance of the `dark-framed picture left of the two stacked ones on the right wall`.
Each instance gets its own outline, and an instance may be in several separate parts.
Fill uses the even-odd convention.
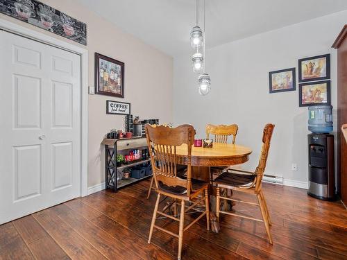
[[[296,90],[295,68],[269,72],[270,93]]]

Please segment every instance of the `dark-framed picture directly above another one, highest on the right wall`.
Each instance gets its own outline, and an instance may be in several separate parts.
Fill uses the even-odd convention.
[[[330,54],[298,60],[299,82],[328,80],[330,78]]]

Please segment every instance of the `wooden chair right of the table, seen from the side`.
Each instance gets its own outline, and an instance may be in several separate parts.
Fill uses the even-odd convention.
[[[254,172],[243,171],[239,169],[228,169],[228,171],[222,173],[214,180],[214,183],[217,185],[217,198],[216,198],[216,214],[217,219],[219,220],[220,214],[228,214],[231,216],[239,216],[242,218],[248,218],[251,220],[256,220],[264,222],[266,234],[269,237],[269,242],[272,244],[272,236],[270,231],[271,218],[269,210],[266,205],[264,193],[262,192],[262,177],[264,175],[266,160],[269,155],[270,141],[273,133],[273,128],[275,125],[268,123],[264,127],[263,136],[262,136],[262,152],[260,155],[260,160],[257,168]],[[220,188],[232,189],[235,191],[242,191],[247,193],[253,193],[257,196],[257,203],[247,202],[244,200],[235,200],[233,198],[226,198],[221,196]],[[235,214],[230,211],[221,211],[220,210],[220,200],[231,200],[234,202],[243,202],[248,205],[256,205],[260,207],[262,213],[262,219],[253,218],[250,216],[244,216],[241,214]]]

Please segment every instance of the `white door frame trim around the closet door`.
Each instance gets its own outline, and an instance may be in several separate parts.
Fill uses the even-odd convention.
[[[0,29],[81,55],[81,197],[88,195],[88,50],[0,17]],[[87,47],[85,47],[87,48]]]

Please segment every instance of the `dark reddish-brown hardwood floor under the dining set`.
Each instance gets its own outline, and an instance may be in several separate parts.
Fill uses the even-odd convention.
[[[0,225],[0,259],[176,259],[178,239],[155,230],[148,244],[155,193],[149,181],[113,193],[100,191]],[[264,184],[273,245],[263,223],[221,216],[221,232],[206,231],[205,218],[187,230],[183,259],[347,259],[347,210],[303,189]],[[248,194],[235,192],[236,198]],[[251,205],[236,211],[260,217]],[[178,223],[157,225],[178,232]]]

